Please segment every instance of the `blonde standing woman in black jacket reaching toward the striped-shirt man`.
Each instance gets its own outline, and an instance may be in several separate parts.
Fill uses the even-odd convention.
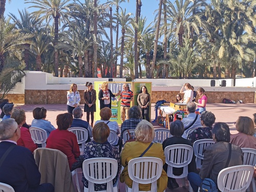
[[[109,90],[109,85],[107,82],[101,84],[101,90],[99,91],[99,108],[110,108],[111,109],[111,97],[116,97],[120,95],[117,93],[114,95],[111,90]]]

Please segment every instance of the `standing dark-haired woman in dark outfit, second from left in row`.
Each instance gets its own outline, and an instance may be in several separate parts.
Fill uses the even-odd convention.
[[[91,114],[91,125],[93,127],[94,112],[96,112],[96,91],[93,89],[93,83],[86,82],[87,90],[84,90],[83,98],[86,103],[84,103],[84,112],[86,112],[87,122],[89,123]]]

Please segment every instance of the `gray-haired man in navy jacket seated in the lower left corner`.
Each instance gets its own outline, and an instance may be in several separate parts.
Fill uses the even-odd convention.
[[[51,183],[40,184],[41,174],[31,151],[17,146],[19,127],[14,119],[0,122],[0,158],[7,155],[0,166],[0,182],[11,185],[15,192],[54,192]]]

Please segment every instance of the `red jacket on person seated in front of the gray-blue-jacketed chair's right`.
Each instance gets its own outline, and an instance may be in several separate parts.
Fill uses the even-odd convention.
[[[69,168],[80,156],[79,145],[77,143],[76,135],[68,130],[53,130],[47,139],[47,148],[59,150],[68,157]]]

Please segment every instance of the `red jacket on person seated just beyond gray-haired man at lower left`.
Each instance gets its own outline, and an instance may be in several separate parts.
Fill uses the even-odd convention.
[[[29,129],[26,127],[20,127],[20,138],[17,141],[17,145],[27,147],[32,153],[37,148],[37,145],[31,138]]]

